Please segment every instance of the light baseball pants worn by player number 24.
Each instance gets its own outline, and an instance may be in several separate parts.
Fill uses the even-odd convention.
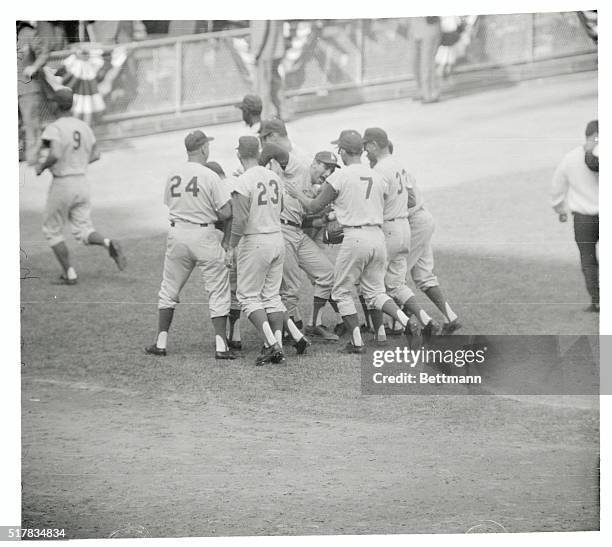
[[[229,272],[223,248],[213,225],[207,227],[177,222],[168,232],[164,273],[159,291],[159,309],[174,308],[179,294],[195,267],[200,269],[211,317],[229,314]]]

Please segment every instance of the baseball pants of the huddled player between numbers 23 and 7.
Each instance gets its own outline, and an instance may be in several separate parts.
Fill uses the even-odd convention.
[[[281,225],[285,240],[280,295],[291,317],[299,317],[298,301],[303,270],[314,285],[314,296],[328,300],[334,284],[334,267],[322,249],[301,228]]]

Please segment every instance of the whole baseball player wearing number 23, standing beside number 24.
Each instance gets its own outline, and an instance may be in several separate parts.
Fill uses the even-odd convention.
[[[244,173],[238,177],[233,194],[234,216],[226,264],[236,262],[238,301],[264,341],[255,364],[282,363],[286,311],[279,294],[285,254],[280,228],[283,182],[259,165],[257,138],[240,137],[238,159]]]

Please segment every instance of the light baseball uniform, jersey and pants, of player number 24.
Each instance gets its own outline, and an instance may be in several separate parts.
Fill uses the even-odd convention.
[[[215,222],[217,211],[231,199],[216,173],[196,162],[185,162],[168,175],[164,203],[170,230],[158,307],[174,308],[181,289],[197,266],[208,291],[211,317],[230,309],[229,272],[225,267]]]

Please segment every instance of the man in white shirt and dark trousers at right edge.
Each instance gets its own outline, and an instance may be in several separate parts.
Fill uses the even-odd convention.
[[[574,238],[580,251],[582,273],[591,305],[585,311],[599,311],[599,166],[591,161],[599,149],[599,122],[590,121],[585,130],[586,141],[571,150],[562,160],[552,180],[552,206],[560,222],[567,222],[568,212],[574,217]]]

